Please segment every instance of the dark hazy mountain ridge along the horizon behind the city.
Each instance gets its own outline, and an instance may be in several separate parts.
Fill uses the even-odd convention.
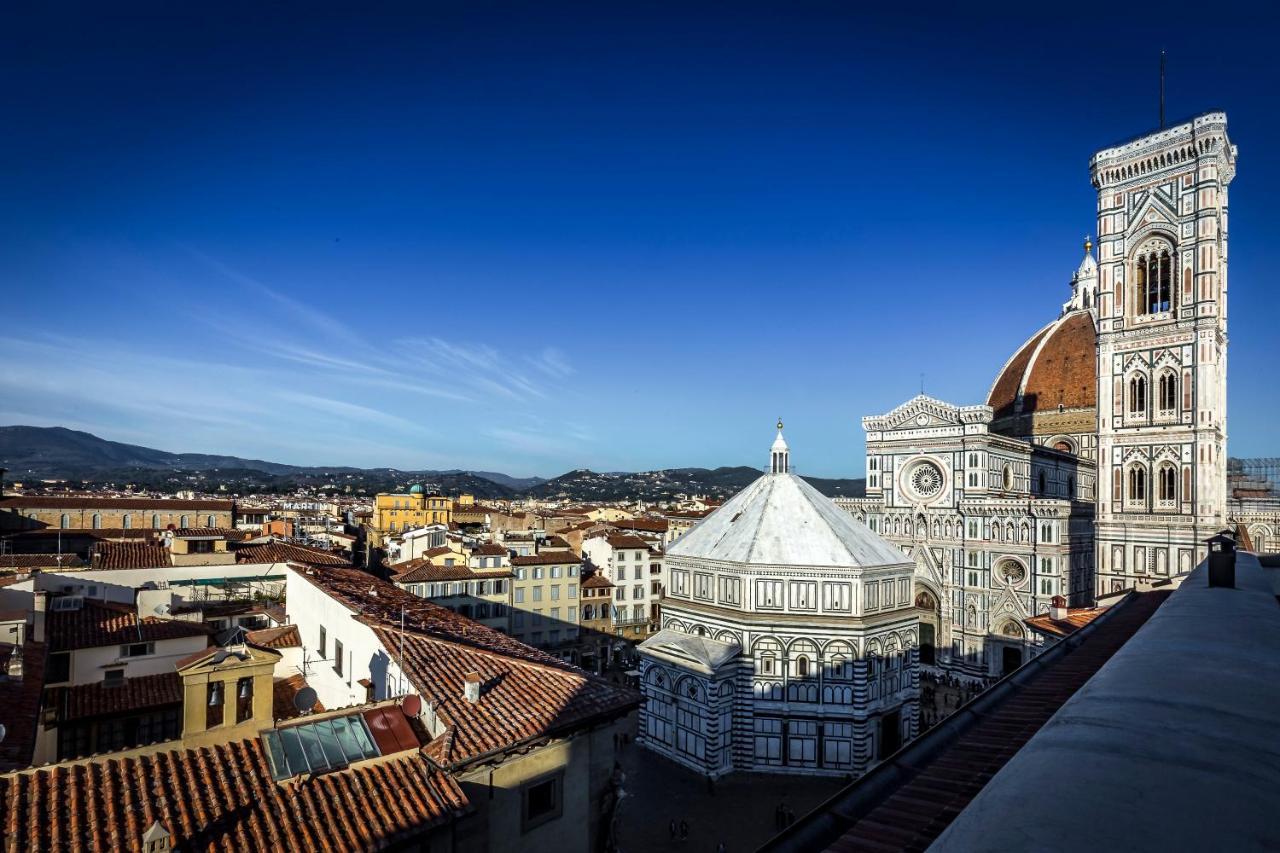
[[[550,480],[498,471],[408,471],[393,467],[302,466],[211,453],[172,453],[99,438],[64,426],[0,426],[0,466],[10,480],[81,480],[136,484],[160,491],[196,489],[244,494],[291,492],[301,487],[392,492],[412,483],[445,494],[479,498],[564,497],[573,501],[659,500],[676,494],[728,497],[760,475],[759,469],[676,467],[660,471],[596,474],[586,469]],[[828,496],[860,497],[863,480],[806,476]]]

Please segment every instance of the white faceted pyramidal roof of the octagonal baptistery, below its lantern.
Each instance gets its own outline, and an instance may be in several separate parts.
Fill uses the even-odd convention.
[[[900,566],[906,555],[791,473],[765,474],[667,548],[694,557],[771,566]]]

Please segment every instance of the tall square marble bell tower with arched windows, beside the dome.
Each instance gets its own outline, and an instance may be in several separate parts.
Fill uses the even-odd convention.
[[[1184,574],[1226,521],[1226,115],[1098,151],[1100,594]]]

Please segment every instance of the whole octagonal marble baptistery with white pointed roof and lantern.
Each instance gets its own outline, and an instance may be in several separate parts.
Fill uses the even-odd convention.
[[[640,740],[712,777],[859,775],[916,734],[913,564],[790,470],[667,549],[662,630],[640,647]]]

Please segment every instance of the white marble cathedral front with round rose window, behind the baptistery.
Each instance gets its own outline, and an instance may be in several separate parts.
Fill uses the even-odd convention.
[[[837,500],[915,564],[920,662],[972,679],[1021,666],[1055,598],[1093,598],[1093,461],[993,420],[923,394],[864,418],[867,497]]]

